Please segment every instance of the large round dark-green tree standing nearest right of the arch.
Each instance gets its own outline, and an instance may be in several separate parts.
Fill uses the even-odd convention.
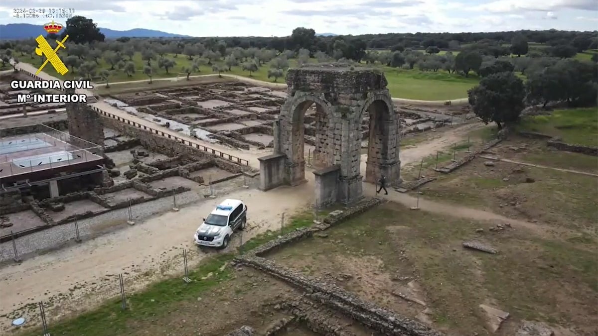
[[[484,124],[496,123],[499,130],[504,124],[515,123],[525,107],[523,81],[512,72],[484,77],[480,85],[471,88],[467,94],[475,115]]]

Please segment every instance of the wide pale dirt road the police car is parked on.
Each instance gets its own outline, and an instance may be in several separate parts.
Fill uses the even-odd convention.
[[[278,229],[280,213],[290,215],[303,209],[313,197],[311,184],[292,188],[292,193],[289,190],[290,187],[267,193],[241,190],[225,196],[245,200],[251,209],[243,240],[269,229]],[[50,319],[89,309],[118,295],[118,273],[124,274],[129,292],[154,282],[162,273],[180,273],[183,248],[191,251],[190,265],[196,265],[206,256],[192,242],[193,233],[200,224],[198,218],[209,213],[220,200],[202,201],[81,245],[1,268],[0,314],[38,301],[54,303],[54,308],[47,309]],[[231,247],[236,243],[233,237]],[[35,309],[24,315],[28,325],[38,322]],[[0,330],[10,328],[10,322],[8,317],[0,319]]]

